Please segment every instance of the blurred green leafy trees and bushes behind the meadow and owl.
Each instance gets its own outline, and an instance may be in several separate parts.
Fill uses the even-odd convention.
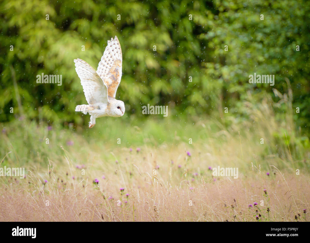
[[[176,119],[223,119],[228,107],[242,120],[245,101],[255,106],[271,97],[279,119],[290,109],[296,128],[308,132],[309,11],[306,0],[1,1],[0,121],[23,115],[87,124],[89,116],[74,111],[86,100],[73,59],[96,70],[116,35],[123,53],[121,119],[146,119],[142,106],[149,103],[168,105]],[[250,84],[255,72],[274,74],[275,85]],[[62,85],[37,84],[41,73],[61,74]]]

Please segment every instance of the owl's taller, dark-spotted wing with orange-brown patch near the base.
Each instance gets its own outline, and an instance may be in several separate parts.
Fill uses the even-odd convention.
[[[115,98],[116,90],[122,77],[122,49],[117,37],[108,41],[97,73],[108,87],[108,96]]]

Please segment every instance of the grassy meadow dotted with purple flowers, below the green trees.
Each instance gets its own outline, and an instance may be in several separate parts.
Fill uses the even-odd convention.
[[[27,175],[0,176],[0,220],[309,221],[309,139],[267,101],[247,106],[248,119],[1,124],[0,167]]]

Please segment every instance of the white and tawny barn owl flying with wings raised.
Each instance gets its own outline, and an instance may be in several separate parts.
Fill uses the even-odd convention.
[[[76,106],[75,111],[91,115],[89,128],[95,125],[98,117],[124,115],[124,102],[115,99],[122,77],[122,49],[117,37],[108,41],[97,71],[82,59],[74,59],[74,63],[88,103]]]

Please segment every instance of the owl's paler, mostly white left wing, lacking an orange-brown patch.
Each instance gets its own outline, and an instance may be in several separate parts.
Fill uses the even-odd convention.
[[[108,88],[94,68],[82,59],[74,59],[77,72],[88,104],[108,103]]]

